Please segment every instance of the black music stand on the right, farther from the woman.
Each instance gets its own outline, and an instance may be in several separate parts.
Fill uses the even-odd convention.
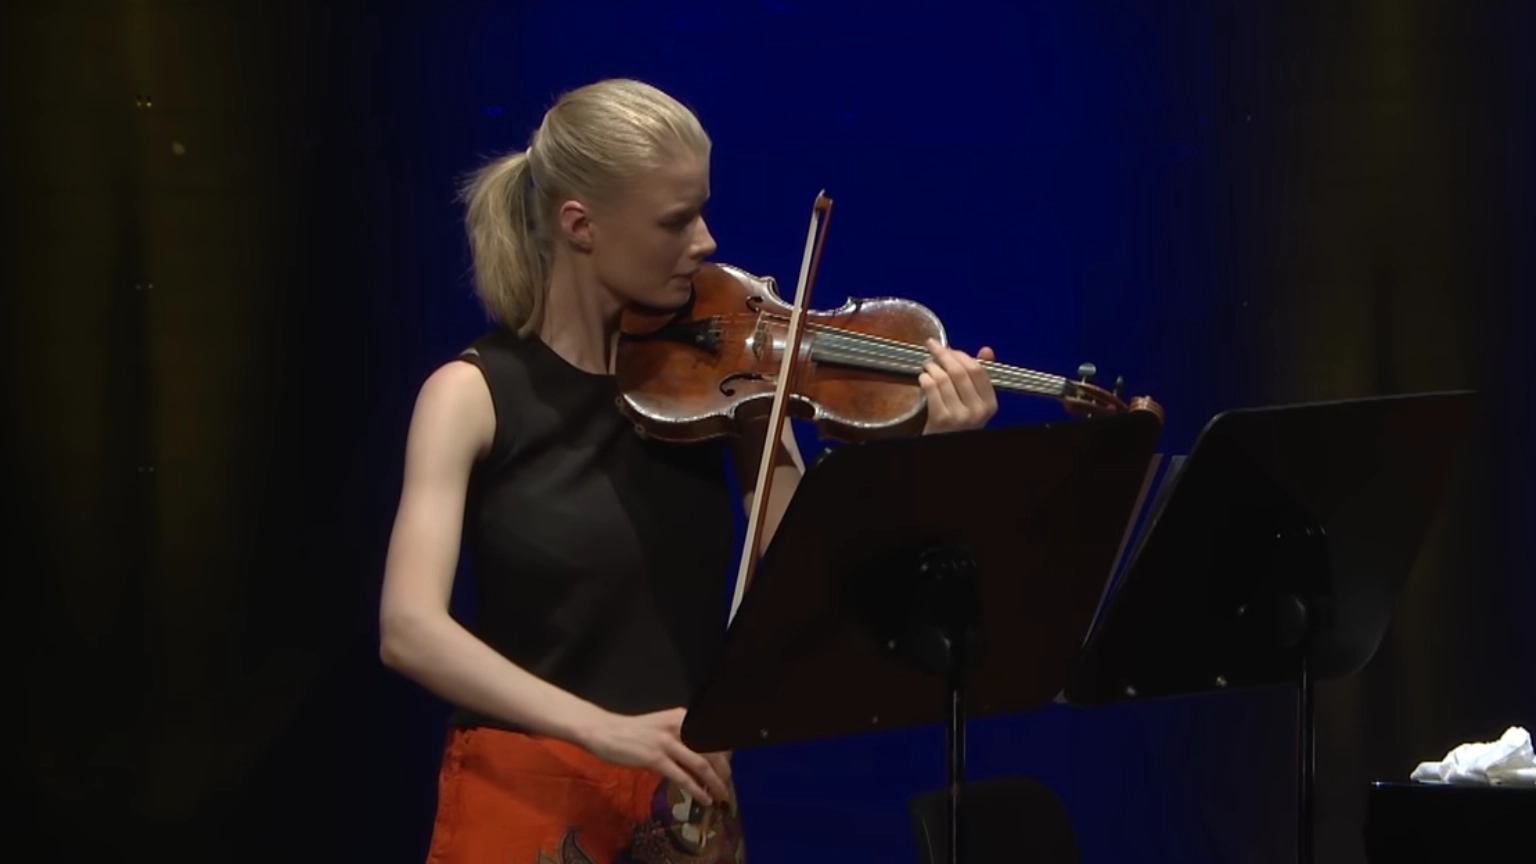
[[[1220,414],[1132,552],[1071,704],[1298,690],[1296,855],[1312,861],[1313,687],[1381,644],[1478,409],[1471,392]]]

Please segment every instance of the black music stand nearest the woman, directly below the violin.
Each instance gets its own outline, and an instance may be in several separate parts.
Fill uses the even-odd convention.
[[[829,452],[763,552],[684,743],[948,723],[958,824],[966,716],[1061,692],[1160,430],[1135,414]]]

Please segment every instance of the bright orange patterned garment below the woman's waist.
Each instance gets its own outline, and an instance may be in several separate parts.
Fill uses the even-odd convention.
[[[449,730],[427,864],[740,864],[736,795],[495,727]]]

